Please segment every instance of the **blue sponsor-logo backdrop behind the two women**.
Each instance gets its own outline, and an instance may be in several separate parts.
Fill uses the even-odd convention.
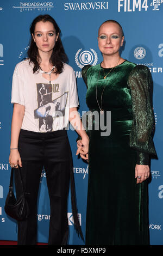
[[[61,29],[61,40],[69,58],[69,65],[77,78],[79,113],[87,111],[86,86],[81,71],[84,65],[96,65],[102,61],[98,50],[98,28],[108,19],[121,23],[125,42],[121,56],[136,64],[146,65],[153,77],[153,107],[155,115],[154,143],[158,154],[151,161],[149,182],[149,231],[151,245],[163,245],[163,0],[109,0],[109,1],[0,1],[0,240],[17,240],[17,225],[4,212],[8,193],[10,165],[10,126],[13,106],[11,100],[12,74],[15,65],[26,57],[29,48],[29,26],[40,14],[49,14]],[[79,220],[85,235],[87,178],[89,166],[76,156],[77,133],[72,126],[68,137],[73,154]],[[101,170],[99,169],[99,175]],[[33,179],[33,177],[31,177]],[[83,245],[73,227],[70,194],[68,198],[68,224],[70,245]],[[46,173],[42,170],[38,200],[38,242],[48,241],[49,198]],[[99,220],[98,225],[101,224]]]

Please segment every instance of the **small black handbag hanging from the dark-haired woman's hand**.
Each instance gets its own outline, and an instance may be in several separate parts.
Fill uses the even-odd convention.
[[[14,169],[15,168],[11,168],[10,186],[9,186],[9,192],[8,192],[7,198],[5,200],[4,210],[7,215],[14,218],[15,220],[23,221],[23,220],[26,220],[26,218],[29,216],[29,208],[28,208],[28,203],[24,194],[23,183],[22,183],[19,167],[15,169],[15,172],[18,172],[18,175],[19,175],[20,187],[21,187],[20,189],[22,190],[21,196],[18,199],[16,199],[14,192],[12,191]]]

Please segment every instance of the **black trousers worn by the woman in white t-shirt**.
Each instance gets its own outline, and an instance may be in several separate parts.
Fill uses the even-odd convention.
[[[35,245],[37,241],[37,194],[43,166],[51,204],[48,245],[66,245],[71,152],[67,132],[59,130],[40,133],[21,130],[18,150],[22,160],[21,176],[30,212],[27,220],[18,222],[18,245]],[[17,175],[15,187],[16,196],[19,197]]]

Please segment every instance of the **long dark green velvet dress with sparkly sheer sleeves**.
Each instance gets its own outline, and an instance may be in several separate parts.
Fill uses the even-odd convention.
[[[95,124],[87,131],[86,245],[148,245],[148,184],[136,184],[135,165],[148,164],[149,154],[156,154],[151,137],[151,73],[127,60],[104,79],[109,71],[100,64],[82,70],[90,111],[99,112],[104,87],[105,119],[106,111],[111,111],[109,136],[101,136]]]

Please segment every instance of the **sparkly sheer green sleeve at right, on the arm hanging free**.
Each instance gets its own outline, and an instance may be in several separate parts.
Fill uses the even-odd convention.
[[[156,154],[151,137],[154,114],[151,103],[151,72],[146,66],[137,65],[130,72],[128,86],[131,89],[133,125],[130,147],[137,151],[137,164],[148,164],[149,154]]]

